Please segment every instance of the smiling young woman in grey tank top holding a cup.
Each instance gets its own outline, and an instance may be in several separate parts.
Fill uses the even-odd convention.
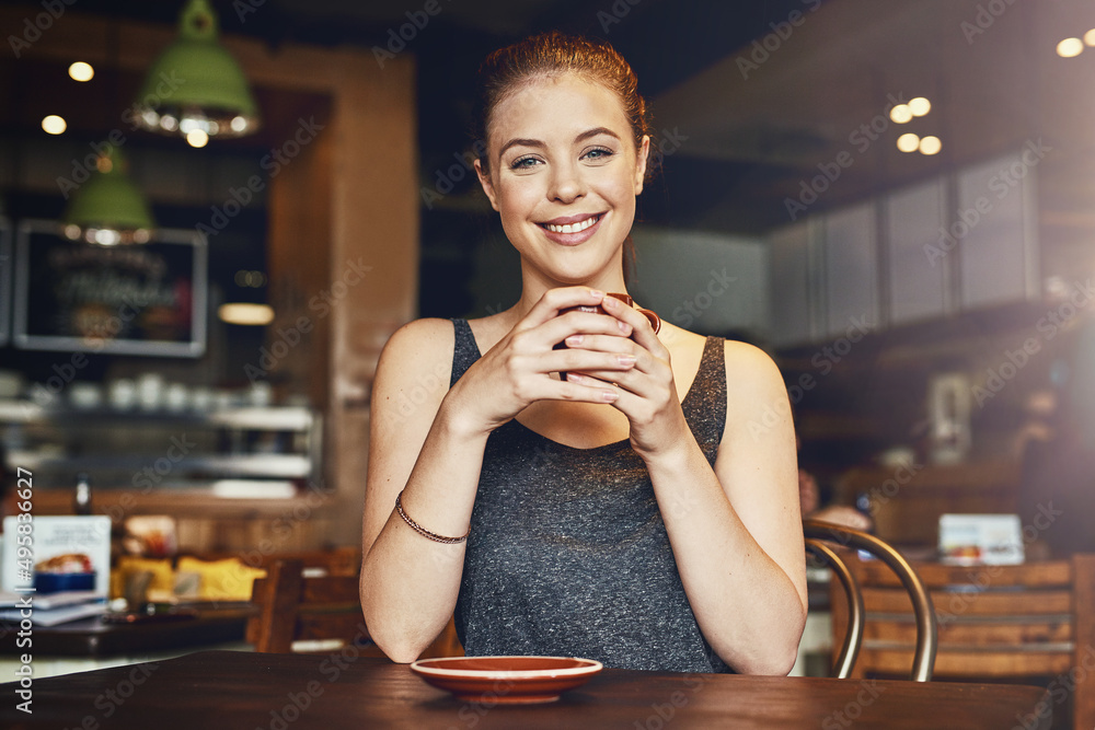
[[[783,380],[751,346],[655,333],[606,297],[626,291],[650,148],[635,74],[607,44],[552,33],[480,76],[476,170],[522,292],[384,348],[361,570],[373,640],[413,661],[456,612],[469,654],[785,674],[806,579]]]

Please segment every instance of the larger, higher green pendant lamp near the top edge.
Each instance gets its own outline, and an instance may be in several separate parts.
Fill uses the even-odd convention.
[[[178,38],[152,63],[137,96],[136,119],[143,128],[182,135],[194,147],[258,128],[258,105],[218,33],[208,0],[188,0],[178,15]]]

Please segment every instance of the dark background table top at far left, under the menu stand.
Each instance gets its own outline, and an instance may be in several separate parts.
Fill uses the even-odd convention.
[[[124,657],[242,641],[250,607],[203,609],[194,616],[152,617],[134,624],[112,624],[102,617],[57,626],[35,626],[33,654],[42,657]],[[19,623],[0,625],[0,656],[22,654]],[[8,677],[3,677],[8,679]]]

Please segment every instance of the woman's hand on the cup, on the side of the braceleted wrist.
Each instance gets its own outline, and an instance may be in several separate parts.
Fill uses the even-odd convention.
[[[579,385],[562,380],[560,371],[626,371],[634,358],[624,356],[631,325],[607,314],[560,312],[572,306],[596,306],[604,293],[588,287],[550,289],[528,314],[480,358],[457,382],[446,401],[468,429],[493,431],[535,401],[612,403],[614,387]],[[568,337],[614,335],[619,352],[553,349]],[[576,343],[575,343],[576,344]],[[589,379],[587,379],[589,380]]]

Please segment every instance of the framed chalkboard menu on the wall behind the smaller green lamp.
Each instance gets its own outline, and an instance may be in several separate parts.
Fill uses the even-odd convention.
[[[55,221],[15,233],[13,341],[36,350],[199,357],[206,345],[206,242],[160,230],[146,244],[69,241]]]

